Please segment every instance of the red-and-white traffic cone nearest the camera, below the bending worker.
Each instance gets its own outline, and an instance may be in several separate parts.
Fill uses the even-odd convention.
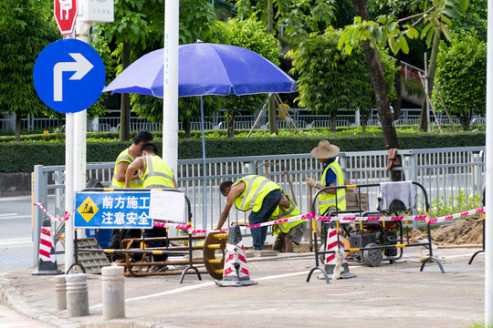
[[[226,243],[225,267],[223,270],[223,280],[215,280],[219,287],[227,286],[248,286],[255,284],[250,280],[250,273],[247,268],[247,257],[245,256],[245,246],[241,238],[241,231],[237,224],[229,229]]]

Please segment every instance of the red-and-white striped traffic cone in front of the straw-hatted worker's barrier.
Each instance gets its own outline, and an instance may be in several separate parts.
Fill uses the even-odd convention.
[[[327,231],[327,251],[336,251],[338,255],[343,253],[343,256],[339,257],[339,264],[336,252],[326,254],[325,272],[327,272],[328,275],[332,275],[335,269],[336,274],[333,275],[335,279],[350,279],[356,277],[356,274],[349,271],[348,259],[346,258],[345,252],[338,252],[343,249],[344,238],[342,237],[341,231],[339,231],[338,241],[338,231],[336,229],[329,228]]]

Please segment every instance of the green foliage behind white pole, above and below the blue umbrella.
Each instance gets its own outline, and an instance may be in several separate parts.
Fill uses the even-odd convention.
[[[131,60],[134,61],[144,54],[163,47],[163,26],[164,26],[164,2],[163,0],[146,1],[121,1],[121,13],[119,20],[115,18],[115,26],[110,29],[106,28],[105,35],[111,37],[119,44],[113,55],[121,59],[122,46],[121,42],[127,41],[121,34],[125,30],[131,29],[136,37],[129,39],[133,46],[131,49]],[[137,14],[132,10],[138,11]],[[131,21],[137,21],[136,26],[145,26],[144,30],[138,29],[133,31]],[[180,1],[180,44],[194,43],[197,39],[205,42],[217,42],[217,36],[214,26],[217,20],[214,14],[214,8],[208,2],[197,2],[194,0]],[[143,28],[143,27],[142,27]],[[139,34],[142,33],[142,36]],[[156,67],[157,69],[158,67]],[[119,65],[116,69],[120,73],[123,67]],[[212,114],[220,104],[217,97],[205,97],[205,113]],[[186,122],[194,118],[200,118],[199,98],[180,98],[179,100],[179,118]],[[142,96],[137,94],[131,95],[131,107],[140,117],[147,117],[153,122],[163,122],[163,99]],[[189,133],[189,130],[187,131]]]

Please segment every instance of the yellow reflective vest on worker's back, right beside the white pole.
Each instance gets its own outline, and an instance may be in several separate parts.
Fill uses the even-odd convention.
[[[143,188],[174,188],[173,170],[157,155],[145,157],[145,172],[139,174]]]

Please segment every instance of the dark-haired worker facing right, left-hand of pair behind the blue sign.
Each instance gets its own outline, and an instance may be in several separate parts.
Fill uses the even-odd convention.
[[[111,187],[124,188],[125,174],[127,168],[134,159],[139,157],[142,145],[152,141],[152,134],[149,131],[139,131],[133,138],[133,142],[128,149],[121,151],[116,159],[115,169],[113,169],[113,178],[111,179]],[[142,188],[142,180],[137,172],[132,172],[131,188]],[[124,239],[138,238],[141,236],[141,231],[138,229],[114,229],[111,231],[111,249],[121,249],[121,241]],[[116,260],[116,254],[111,254],[111,260]]]

